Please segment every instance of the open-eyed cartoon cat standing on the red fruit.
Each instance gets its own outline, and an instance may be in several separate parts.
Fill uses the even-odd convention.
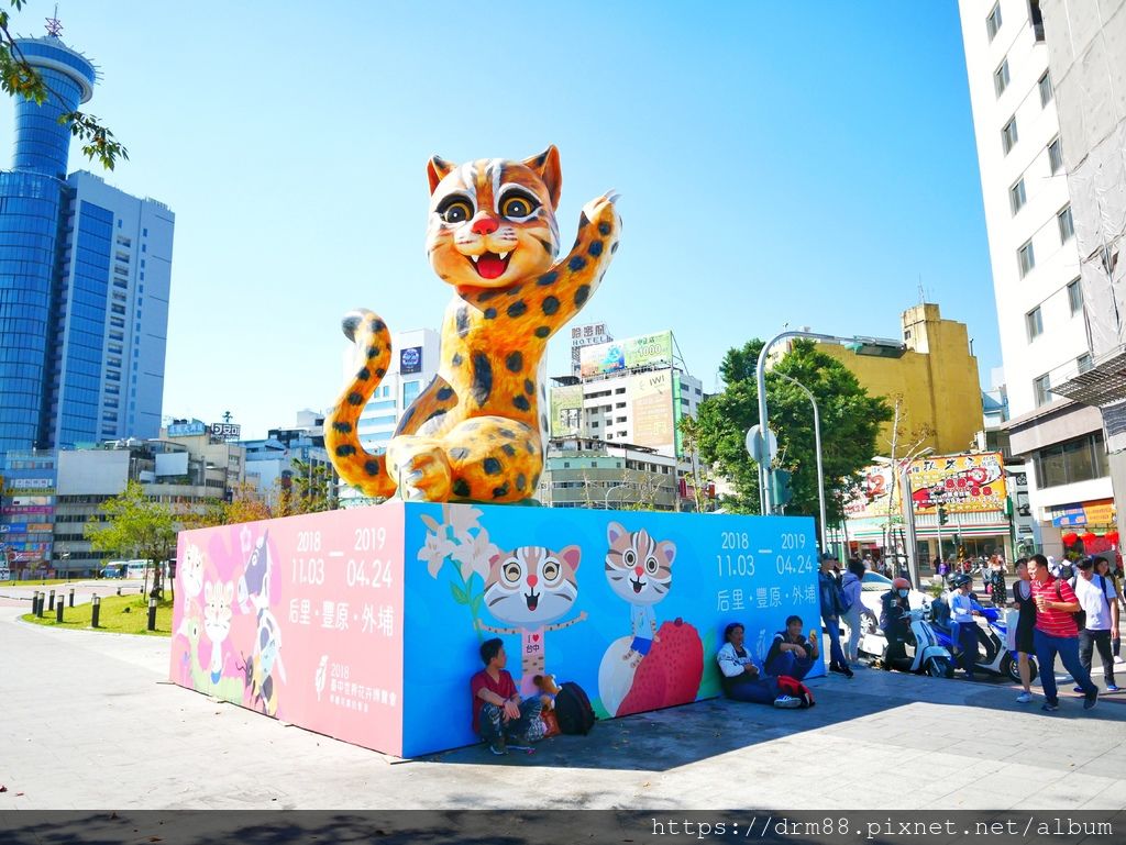
[[[606,538],[610,543],[606,552],[606,578],[610,588],[632,605],[633,641],[622,659],[636,667],[653,642],[660,642],[653,605],[668,596],[672,587],[677,547],[668,540],[658,542],[645,529],[631,533],[618,522],[607,527]]]

